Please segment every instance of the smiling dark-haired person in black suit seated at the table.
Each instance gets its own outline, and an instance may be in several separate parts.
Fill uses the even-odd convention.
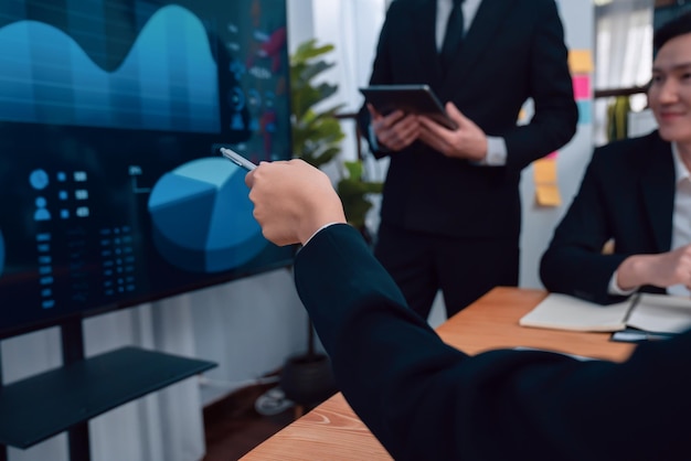
[[[691,287],[691,12],[656,32],[648,92],[659,129],[595,150],[541,262],[550,291],[603,304]],[[613,174],[616,172],[616,174]],[[603,255],[609,239],[615,251]]]

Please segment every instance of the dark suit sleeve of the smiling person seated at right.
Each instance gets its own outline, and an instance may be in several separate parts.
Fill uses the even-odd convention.
[[[606,189],[614,182],[612,173],[616,169],[606,163],[606,154],[595,150],[578,193],[540,261],[540,278],[548,290],[600,304],[623,300],[608,294],[608,289],[613,274],[628,256],[602,253],[613,237],[609,221],[616,218],[614,210],[607,208],[613,193]]]

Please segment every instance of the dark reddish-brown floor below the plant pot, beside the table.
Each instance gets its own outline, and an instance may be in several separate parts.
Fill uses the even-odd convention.
[[[274,386],[246,387],[204,408],[206,455],[203,461],[237,460],[293,422],[294,407],[273,416],[259,415],[254,409],[256,399]]]

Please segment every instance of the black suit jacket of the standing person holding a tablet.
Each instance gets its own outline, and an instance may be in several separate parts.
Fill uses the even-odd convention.
[[[435,43],[436,0],[396,0],[386,14],[371,84],[428,84],[489,136],[503,137],[504,168],[449,159],[423,143],[391,154],[382,221],[457,237],[518,238],[521,169],[565,144],[577,108],[554,0],[483,0],[446,76]],[[534,100],[530,125],[517,127]],[[368,132],[363,106],[360,124]],[[382,157],[387,152],[374,151]]]

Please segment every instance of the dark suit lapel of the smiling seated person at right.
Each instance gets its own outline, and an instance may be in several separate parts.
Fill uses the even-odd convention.
[[[640,186],[657,249],[662,253],[669,251],[672,244],[672,214],[677,190],[674,163],[668,142],[656,137],[651,150],[653,152],[649,156],[650,161],[644,165],[646,170]]]

